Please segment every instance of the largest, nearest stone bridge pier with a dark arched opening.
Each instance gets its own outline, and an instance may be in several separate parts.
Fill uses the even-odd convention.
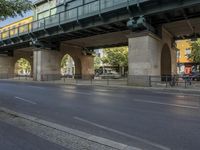
[[[151,32],[131,34],[129,43],[129,85],[149,85],[149,76],[176,74],[176,48],[173,37],[162,29],[162,38]]]

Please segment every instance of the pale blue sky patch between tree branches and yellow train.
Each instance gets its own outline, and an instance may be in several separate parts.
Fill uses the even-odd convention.
[[[36,0],[31,0],[31,1],[32,1],[32,2],[35,2]],[[16,21],[18,21],[18,20],[21,20],[21,19],[26,18],[26,17],[31,16],[31,15],[33,15],[33,12],[32,12],[32,11],[29,11],[29,12],[27,12],[26,14],[23,14],[23,17],[17,16],[17,17],[15,17],[15,18],[8,18],[8,19],[6,19],[6,20],[0,22],[0,27],[3,27],[3,26],[5,26],[5,25],[7,25],[7,24],[10,24],[10,23],[12,23],[12,22],[16,22]]]

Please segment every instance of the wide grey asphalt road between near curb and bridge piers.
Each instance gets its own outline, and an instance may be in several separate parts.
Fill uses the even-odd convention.
[[[200,149],[200,93],[0,81],[0,106],[143,149]]]

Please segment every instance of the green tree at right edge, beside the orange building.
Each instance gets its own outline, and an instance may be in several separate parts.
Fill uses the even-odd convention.
[[[194,63],[200,64],[200,39],[195,42],[191,42],[191,54],[189,54],[188,58]]]

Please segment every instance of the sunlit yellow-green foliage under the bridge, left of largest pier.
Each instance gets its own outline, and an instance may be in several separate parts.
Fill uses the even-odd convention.
[[[112,66],[128,65],[128,47],[115,47],[104,49],[105,56],[102,62]]]

